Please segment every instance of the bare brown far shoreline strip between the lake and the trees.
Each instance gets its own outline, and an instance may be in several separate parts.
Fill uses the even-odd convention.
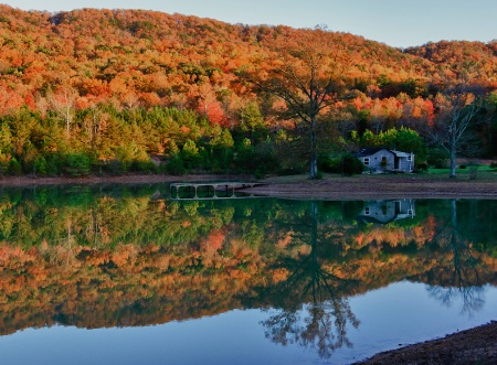
[[[93,184],[154,184],[198,181],[250,181],[248,175],[108,175],[108,176],[4,176],[0,187],[30,187]],[[257,180],[261,185],[245,187],[261,196],[317,200],[378,200],[378,198],[497,198],[497,172],[476,180],[461,175],[448,179],[430,174],[398,175],[325,175],[309,180],[307,175],[268,176]]]

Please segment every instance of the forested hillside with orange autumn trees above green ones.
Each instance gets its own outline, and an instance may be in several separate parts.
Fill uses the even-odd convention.
[[[485,92],[466,143],[477,148],[462,143],[461,153],[497,154],[497,43],[402,51],[322,29],[0,4],[1,173],[305,171],[308,126],[253,77],[266,79],[285,57],[304,60],[311,43],[330,45],[341,77],[317,120],[322,169],[330,155],[371,144],[371,133],[378,144],[401,127],[430,146],[437,95],[461,67]],[[415,152],[417,162],[432,158]]]

